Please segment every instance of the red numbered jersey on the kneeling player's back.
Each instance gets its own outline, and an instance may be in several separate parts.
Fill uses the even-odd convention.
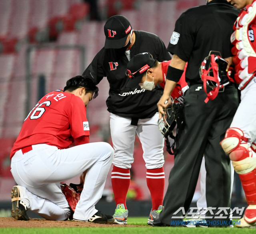
[[[54,91],[45,95],[24,120],[10,158],[16,151],[37,144],[66,149],[74,139],[89,135],[82,99],[62,90]]]

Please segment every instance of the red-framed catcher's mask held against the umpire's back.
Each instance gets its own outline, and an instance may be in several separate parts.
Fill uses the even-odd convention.
[[[207,94],[207,98],[204,100],[206,103],[209,99],[213,100],[217,97],[219,89],[228,85],[230,81],[233,81],[230,77],[232,68],[226,71],[228,62],[221,58],[221,54],[218,51],[210,51],[209,55],[204,59],[200,67],[200,77],[204,82],[204,91]],[[209,86],[212,90],[207,93],[206,86]]]

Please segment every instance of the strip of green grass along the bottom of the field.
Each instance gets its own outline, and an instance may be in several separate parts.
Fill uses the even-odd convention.
[[[1,234],[254,234],[248,228],[174,228],[151,227],[148,217],[129,217],[128,224],[142,227],[117,226],[109,228],[0,228]]]

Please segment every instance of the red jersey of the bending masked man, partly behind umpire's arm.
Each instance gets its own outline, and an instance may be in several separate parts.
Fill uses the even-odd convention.
[[[170,65],[170,62],[171,60],[162,62],[162,73],[164,78],[163,83],[160,83],[162,88],[164,88],[166,83],[166,73],[167,73],[168,66]],[[174,100],[175,98],[177,98],[177,100],[181,103],[183,103],[183,93],[188,89],[188,83],[185,80],[187,64],[188,63],[186,63],[185,65],[184,72],[182,74],[182,77],[180,78],[180,81],[177,83],[176,87],[171,93],[172,99]]]

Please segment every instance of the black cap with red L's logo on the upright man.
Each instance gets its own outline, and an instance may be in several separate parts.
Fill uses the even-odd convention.
[[[129,20],[124,16],[112,16],[104,25],[105,49],[120,49],[132,30]]]

